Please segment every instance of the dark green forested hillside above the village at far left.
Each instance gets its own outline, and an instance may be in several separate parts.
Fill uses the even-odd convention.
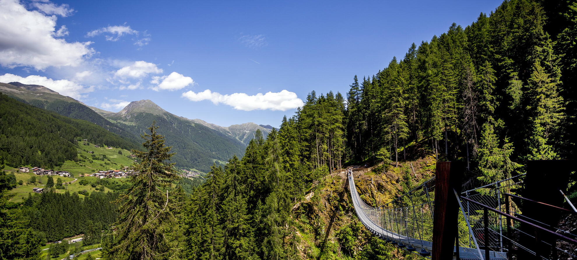
[[[128,150],[138,148],[91,122],[60,116],[0,94],[2,164],[53,168],[77,158],[74,140],[78,139]]]

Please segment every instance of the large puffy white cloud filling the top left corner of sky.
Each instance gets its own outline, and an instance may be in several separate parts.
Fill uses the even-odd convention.
[[[48,2],[50,3],[50,2]],[[70,10],[49,9],[39,5],[47,14],[65,14]],[[27,10],[18,0],[1,0],[0,10],[0,65],[8,68],[31,66],[43,70],[49,66],[77,66],[95,51],[91,42],[66,42],[54,36],[65,35],[62,27],[56,31],[57,17],[47,16],[35,10]],[[70,12],[65,12],[69,10]],[[58,12],[57,12],[58,11]]]

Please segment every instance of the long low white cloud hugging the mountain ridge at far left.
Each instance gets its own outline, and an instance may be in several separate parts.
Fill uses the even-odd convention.
[[[53,80],[48,79],[47,77],[36,75],[21,77],[9,73],[0,76],[0,82],[9,83],[14,81],[27,85],[44,86],[58,92],[61,95],[71,96],[72,98],[76,99],[80,99],[83,97],[82,94],[92,92],[94,90],[93,87],[85,87],[70,80]]]

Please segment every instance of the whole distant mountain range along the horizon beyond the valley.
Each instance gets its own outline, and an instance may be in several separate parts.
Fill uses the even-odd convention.
[[[179,168],[203,172],[208,172],[215,162],[217,165],[226,162],[233,154],[242,157],[257,129],[264,136],[272,130],[270,125],[253,122],[220,127],[200,119],[190,120],[169,113],[150,100],[130,102],[120,112],[114,113],[87,106],[38,85],[0,83],[0,92],[62,116],[93,122],[134,144],[142,143],[140,134],[156,121],[160,127],[158,132],[166,137],[166,145],[172,146],[172,151],[177,153],[173,162]]]

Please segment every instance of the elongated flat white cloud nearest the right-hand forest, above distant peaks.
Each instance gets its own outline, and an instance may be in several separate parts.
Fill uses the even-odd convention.
[[[252,111],[252,110],[282,110],[295,109],[303,106],[304,103],[297,97],[295,92],[283,90],[280,92],[267,92],[267,94],[258,93],[249,96],[245,93],[234,93],[231,95],[222,95],[218,92],[205,90],[195,93],[188,91],[182,93],[182,96],[190,101],[209,100],[215,105],[224,103],[234,109]]]

